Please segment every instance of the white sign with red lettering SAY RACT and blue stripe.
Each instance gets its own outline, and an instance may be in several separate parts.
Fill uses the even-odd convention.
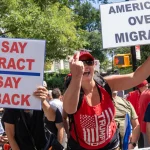
[[[41,109],[44,54],[44,40],[0,38],[0,107]]]

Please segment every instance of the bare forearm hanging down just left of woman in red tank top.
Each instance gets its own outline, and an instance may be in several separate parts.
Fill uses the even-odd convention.
[[[57,130],[58,130],[58,132],[57,132],[57,140],[58,140],[58,142],[59,142],[60,144],[62,144],[62,142],[63,142],[63,137],[64,137],[64,127],[63,127],[63,123],[62,123],[62,122],[61,122],[61,123],[56,123],[55,125],[56,125]]]

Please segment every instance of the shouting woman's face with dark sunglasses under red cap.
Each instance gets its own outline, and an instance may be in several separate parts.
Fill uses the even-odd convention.
[[[82,56],[80,61],[84,64],[84,73],[82,81],[91,81],[94,76],[94,60],[90,60],[87,56]]]

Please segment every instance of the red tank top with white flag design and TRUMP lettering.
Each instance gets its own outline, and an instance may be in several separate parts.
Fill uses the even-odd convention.
[[[76,132],[80,146],[85,149],[99,149],[106,146],[116,132],[115,108],[110,95],[100,87],[102,99],[96,106],[89,106],[84,95],[79,110],[74,114]],[[71,136],[76,139],[74,125]]]

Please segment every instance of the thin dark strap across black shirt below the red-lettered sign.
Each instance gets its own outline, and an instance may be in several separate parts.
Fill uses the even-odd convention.
[[[34,138],[33,138],[32,134],[31,134],[31,132],[29,131],[28,126],[27,126],[27,123],[26,123],[26,120],[25,120],[25,116],[24,116],[23,110],[20,110],[20,113],[21,113],[21,117],[22,117],[23,123],[24,123],[24,125],[25,125],[25,127],[26,127],[26,129],[27,129],[27,132],[28,132],[28,134],[29,134],[29,137],[30,137],[30,139],[31,139],[31,141],[32,141],[34,150],[37,150],[37,148],[36,148],[36,146],[35,146]]]

